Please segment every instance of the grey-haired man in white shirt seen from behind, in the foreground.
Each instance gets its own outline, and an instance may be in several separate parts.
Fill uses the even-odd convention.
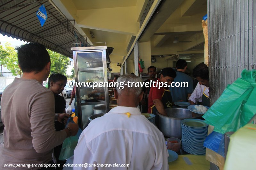
[[[135,75],[124,75],[117,80],[124,84],[128,81],[142,82]],[[97,164],[99,170],[169,169],[164,135],[137,107],[142,99],[141,90],[142,87],[127,85],[122,90],[114,89],[118,106],[84,129],[74,151],[74,164],[87,163],[92,166],[86,169],[93,170]],[[127,166],[120,167],[124,164]],[[113,165],[119,167],[111,167]]]

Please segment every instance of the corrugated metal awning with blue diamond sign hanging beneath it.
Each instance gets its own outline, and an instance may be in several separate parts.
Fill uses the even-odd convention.
[[[48,16],[43,27],[36,17],[36,11],[42,4]],[[74,28],[74,21],[62,16],[48,0],[1,0],[0,33],[27,42],[38,42],[70,58],[73,58],[72,43],[86,43]]]

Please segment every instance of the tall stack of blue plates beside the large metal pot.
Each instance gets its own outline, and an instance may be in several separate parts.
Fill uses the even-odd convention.
[[[182,149],[190,154],[205,155],[204,140],[207,137],[208,126],[200,119],[182,120]]]

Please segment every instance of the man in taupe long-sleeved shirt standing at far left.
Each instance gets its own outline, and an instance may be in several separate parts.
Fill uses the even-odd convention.
[[[52,161],[52,149],[66,137],[76,135],[78,125],[69,123],[66,129],[55,131],[54,96],[42,85],[51,67],[45,47],[30,43],[17,50],[23,75],[15,78],[2,95],[5,127],[4,142],[0,144],[0,169],[13,169],[18,164],[16,169],[45,168]],[[59,119],[64,116],[59,114]]]

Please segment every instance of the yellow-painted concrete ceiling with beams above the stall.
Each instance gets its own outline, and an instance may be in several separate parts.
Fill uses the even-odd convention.
[[[152,11],[147,8],[148,2]],[[201,21],[207,13],[206,0],[52,0],[52,3],[68,19],[76,20],[88,41],[106,42],[114,48],[111,63],[122,63],[136,40],[150,41],[151,56],[186,54],[191,60],[203,56]],[[151,16],[145,19],[143,27],[140,19],[145,9],[147,16]],[[173,43],[177,37],[179,41],[191,42]]]

